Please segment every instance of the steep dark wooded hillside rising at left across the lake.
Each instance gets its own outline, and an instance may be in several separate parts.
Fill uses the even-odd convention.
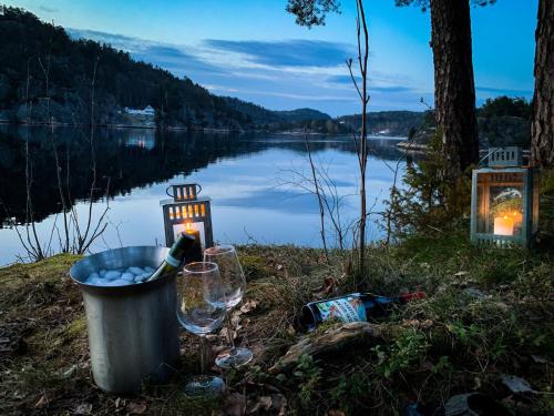
[[[0,16],[0,119],[25,118],[27,74],[33,120],[90,121],[95,72],[95,120],[125,123],[121,109],[156,110],[156,122],[171,125],[248,129],[252,119],[189,79],[137,62],[129,53],[89,40],[72,40],[63,28],[21,9]]]

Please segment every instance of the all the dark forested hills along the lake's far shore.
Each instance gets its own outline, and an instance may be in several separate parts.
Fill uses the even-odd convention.
[[[331,118],[314,109],[273,111],[214,95],[186,77],[178,79],[107,44],[72,39],[63,28],[22,9],[6,8],[0,22],[0,37],[7,40],[0,44],[0,122],[27,122],[25,104],[32,103],[33,123],[89,124],[94,80],[93,122],[100,125],[127,123],[122,114],[125,106],[152,105],[158,126],[271,132],[306,129],[321,134],[349,134],[361,126],[359,114]],[[531,111],[525,100],[489,100],[478,116],[483,141],[505,142],[505,138],[515,136],[517,143],[529,143],[525,126]],[[368,124],[371,134],[384,131],[383,135],[408,136],[410,130],[424,125],[424,113],[370,112]]]

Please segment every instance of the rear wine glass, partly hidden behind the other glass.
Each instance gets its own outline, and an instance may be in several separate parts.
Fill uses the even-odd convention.
[[[216,263],[219,267],[225,294],[227,333],[230,348],[217,355],[215,363],[223,368],[239,367],[250,362],[252,351],[236,347],[233,339],[233,324],[230,310],[238,305],[246,292],[246,281],[238,261],[237,252],[233,245],[216,245],[204,251],[204,261]]]

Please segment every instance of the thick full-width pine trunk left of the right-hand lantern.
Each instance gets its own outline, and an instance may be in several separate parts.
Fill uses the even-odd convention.
[[[468,0],[431,0],[431,47],[435,118],[444,154],[443,176],[455,181],[479,159]]]

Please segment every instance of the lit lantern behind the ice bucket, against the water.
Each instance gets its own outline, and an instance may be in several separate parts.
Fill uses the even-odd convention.
[[[198,197],[202,186],[196,183],[171,185],[166,193],[172,199],[160,201],[164,214],[165,244],[170,247],[179,233],[196,237],[202,248],[214,245],[211,199]]]

